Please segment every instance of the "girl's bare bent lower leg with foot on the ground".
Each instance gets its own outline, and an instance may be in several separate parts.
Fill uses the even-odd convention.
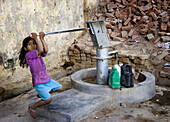
[[[49,104],[51,101],[52,101],[52,97],[50,97],[48,100],[40,100],[37,103],[30,106],[28,109],[29,109],[31,117],[33,117],[34,119],[38,119],[36,112],[35,112],[35,109],[40,107],[40,106]]]

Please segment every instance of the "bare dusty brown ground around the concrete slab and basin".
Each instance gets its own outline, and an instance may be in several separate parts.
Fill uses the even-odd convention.
[[[70,88],[70,77],[59,80],[64,89]],[[0,103],[0,122],[53,122],[39,117],[34,120],[28,105],[39,100],[33,89]],[[132,104],[110,104],[80,122],[170,122],[170,88],[156,86],[156,95],[149,101]]]

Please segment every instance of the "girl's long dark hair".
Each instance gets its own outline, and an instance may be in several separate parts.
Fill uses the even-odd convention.
[[[26,51],[26,50],[24,49],[24,47],[27,48],[28,42],[29,42],[30,40],[33,40],[33,41],[35,42],[35,40],[34,40],[33,38],[31,38],[30,36],[26,37],[26,38],[23,40],[23,42],[22,42],[22,48],[21,48],[21,51],[20,51],[20,54],[19,54],[19,64],[20,64],[20,66],[23,67],[23,68],[24,68],[25,65],[28,67],[28,64],[27,64],[27,62],[26,62],[26,60],[25,60],[25,54],[26,54],[28,51]]]

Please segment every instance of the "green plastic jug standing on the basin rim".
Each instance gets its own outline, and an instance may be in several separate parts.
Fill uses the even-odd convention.
[[[113,89],[119,89],[120,88],[120,75],[117,69],[113,66],[112,72],[109,73],[109,85]]]

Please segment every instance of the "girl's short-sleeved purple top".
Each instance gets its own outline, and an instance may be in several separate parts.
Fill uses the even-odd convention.
[[[26,62],[29,65],[32,74],[33,86],[50,81],[42,58],[45,56],[44,53],[41,53],[41,55],[38,56],[37,50],[29,51],[25,55]]]

